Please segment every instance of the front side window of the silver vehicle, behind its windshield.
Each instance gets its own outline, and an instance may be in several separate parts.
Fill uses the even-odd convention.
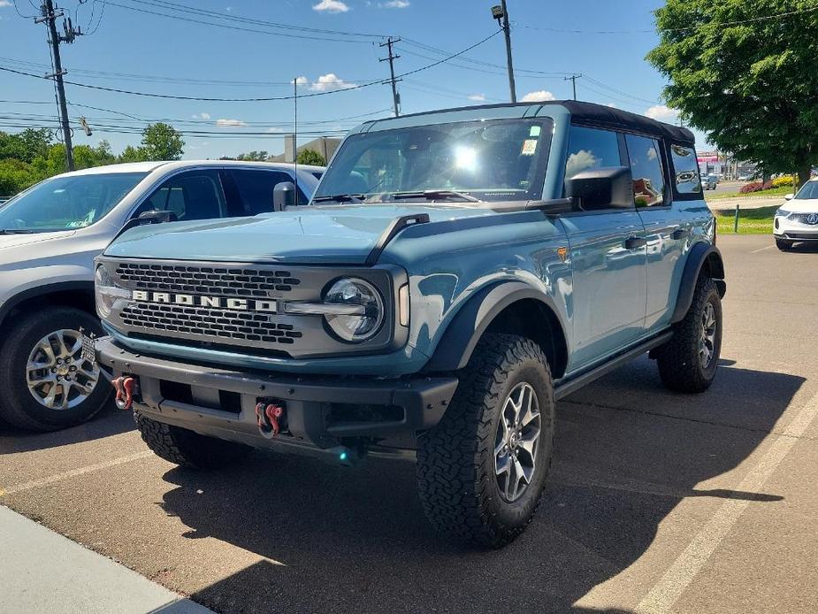
[[[156,209],[172,211],[176,219],[223,218],[225,195],[217,171],[180,173],[165,181],[134,214]]]

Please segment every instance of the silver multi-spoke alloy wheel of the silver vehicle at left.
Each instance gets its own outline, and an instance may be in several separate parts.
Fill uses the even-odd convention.
[[[99,366],[82,359],[82,334],[61,329],[45,335],[28,355],[26,382],[34,400],[50,410],[76,407],[99,381]]]

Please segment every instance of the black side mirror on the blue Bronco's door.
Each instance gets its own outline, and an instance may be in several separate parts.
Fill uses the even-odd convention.
[[[633,178],[627,166],[608,166],[577,173],[565,181],[565,196],[582,211],[632,209]]]

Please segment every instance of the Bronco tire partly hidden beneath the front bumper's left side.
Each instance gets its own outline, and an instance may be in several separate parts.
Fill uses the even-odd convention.
[[[220,469],[240,461],[250,448],[235,443],[207,437],[181,428],[166,425],[134,411],[136,427],[142,441],[157,455],[171,463],[194,469]]]

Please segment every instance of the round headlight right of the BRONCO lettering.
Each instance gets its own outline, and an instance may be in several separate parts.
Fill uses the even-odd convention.
[[[326,323],[345,342],[364,342],[378,333],[384,321],[384,302],[369,281],[344,278],[333,283],[324,296],[330,305],[358,307],[353,313],[327,313]]]

